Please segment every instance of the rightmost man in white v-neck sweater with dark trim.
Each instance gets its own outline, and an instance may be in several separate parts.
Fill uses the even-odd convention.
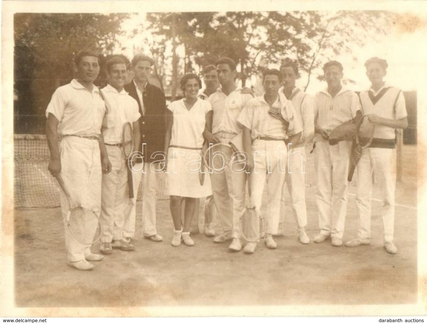
[[[375,124],[374,138],[369,148],[363,150],[357,164],[356,204],[359,212],[357,238],[345,245],[356,247],[370,243],[371,238],[371,196],[372,173],[380,186],[382,195],[381,217],[384,229],[384,248],[395,254],[393,244],[395,219],[396,152],[395,129],[408,126],[405,98],[400,89],[383,81],[387,61],[374,57],[365,63],[366,75],[371,81],[368,91],[360,92],[363,115]]]

